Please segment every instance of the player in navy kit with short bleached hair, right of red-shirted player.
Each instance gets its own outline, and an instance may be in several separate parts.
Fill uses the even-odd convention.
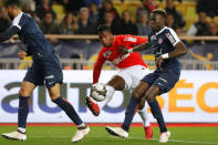
[[[106,131],[112,135],[126,138],[139,100],[146,100],[148,104],[152,105],[152,102],[154,102],[157,95],[170,91],[179,80],[180,63],[177,58],[186,54],[187,49],[174,30],[165,25],[166,18],[167,14],[165,10],[153,10],[150,14],[150,28],[153,31],[148,35],[148,41],[131,50],[126,48],[121,49],[121,51],[126,54],[152,48],[154,50],[157,70],[145,75],[133,91],[122,127],[106,127]],[[150,108],[154,107],[150,106]],[[162,118],[160,112],[158,110],[152,110],[152,113],[154,117],[157,118],[158,124],[160,124],[159,142],[168,142],[170,132],[167,131],[164,125],[164,118]]]

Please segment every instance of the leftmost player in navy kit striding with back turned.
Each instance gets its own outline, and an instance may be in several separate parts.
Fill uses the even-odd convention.
[[[82,139],[90,132],[90,127],[80,118],[74,107],[60,95],[63,74],[53,46],[46,41],[34,19],[22,12],[19,0],[8,0],[6,7],[13,20],[11,27],[0,33],[0,42],[18,34],[27,46],[27,52],[21,51],[18,56],[23,59],[25,55],[31,55],[33,64],[28,70],[19,91],[18,130],[12,133],[3,133],[2,137],[27,139],[25,125],[30,105],[29,99],[35,86],[43,85],[45,82],[52,102],[60,106],[77,125],[77,131],[71,141]]]

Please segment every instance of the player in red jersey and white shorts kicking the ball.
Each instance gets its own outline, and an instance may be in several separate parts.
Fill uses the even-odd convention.
[[[87,107],[91,110],[93,115],[97,116],[100,114],[100,108],[106,105],[115,91],[132,91],[137,86],[139,81],[144,75],[149,73],[147,65],[144,63],[139,53],[128,53],[123,55],[118,52],[118,49],[126,46],[128,49],[145,43],[147,39],[133,37],[129,34],[126,35],[113,35],[111,29],[103,24],[97,28],[100,41],[103,44],[102,50],[98,53],[97,61],[94,65],[93,71],[93,84],[98,82],[102,66],[105,61],[112,62],[116,68],[121,69],[120,72],[114,75],[111,81],[106,84],[106,100],[104,102],[97,103],[86,97]],[[145,137],[147,139],[153,138],[153,130],[149,124],[149,120],[144,107],[145,103],[138,106],[138,114],[143,120]]]

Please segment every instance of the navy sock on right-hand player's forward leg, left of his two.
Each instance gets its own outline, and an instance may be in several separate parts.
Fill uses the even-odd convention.
[[[122,125],[122,128],[128,132],[131,123],[133,121],[133,116],[135,114],[135,111],[137,110],[139,100],[136,97],[131,97],[131,101],[128,103],[128,106],[126,107],[126,113],[125,113],[125,120]]]

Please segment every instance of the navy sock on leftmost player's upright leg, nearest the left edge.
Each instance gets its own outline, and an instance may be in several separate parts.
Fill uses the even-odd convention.
[[[18,127],[25,128],[28,113],[30,107],[30,96],[19,96],[19,108],[18,108]]]

